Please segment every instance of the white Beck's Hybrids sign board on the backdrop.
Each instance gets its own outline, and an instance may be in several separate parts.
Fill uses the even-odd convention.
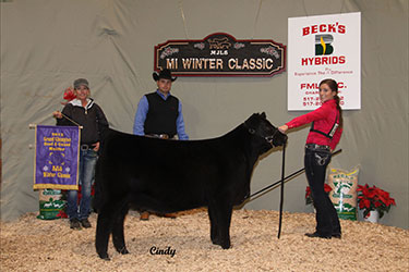
[[[288,18],[288,110],[321,106],[318,84],[338,83],[344,110],[361,109],[361,13]]]

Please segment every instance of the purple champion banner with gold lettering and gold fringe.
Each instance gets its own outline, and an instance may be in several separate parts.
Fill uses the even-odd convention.
[[[80,128],[36,127],[34,189],[79,189]]]

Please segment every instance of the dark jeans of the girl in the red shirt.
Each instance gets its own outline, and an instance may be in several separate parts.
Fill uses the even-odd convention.
[[[340,234],[337,211],[324,190],[326,168],[330,161],[330,151],[305,148],[305,174],[311,188],[311,196],[316,210],[315,231],[322,235]]]

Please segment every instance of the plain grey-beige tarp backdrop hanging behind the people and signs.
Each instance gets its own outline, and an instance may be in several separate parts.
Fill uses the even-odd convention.
[[[408,0],[2,0],[0,8],[2,220],[38,211],[28,124],[55,124],[51,113],[62,109],[63,90],[75,78],[89,81],[111,127],[131,133],[140,98],[156,86],[155,45],[216,32],[287,45],[288,17],[360,11],[362,109],[345,111],[344,151],[332,166],[360,165],[360,184],[396,199],[381,223],[408,227]],[[220,136],[254,112],[266,112],[275,125],[304,113],[287,111],[287,73],[179,77],[172,94],[182,101],[191,139]],[[303,168],[308,131],[289,134],[288,174]],[[260,160],[252,191],[279,180],[280,160],[279,150]],[[286,184],[285,211],[312,212],[305,186],[304,175]],[[244,208],[278,206],[275,189]]]

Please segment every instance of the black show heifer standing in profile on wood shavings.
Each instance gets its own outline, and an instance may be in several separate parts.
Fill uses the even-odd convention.
[[[115,248],[128,254],[123,221],[130,205],[160,213],[208,208],[210,238],[230,247],[232,208],[250,194],[258,157],[282,146],[287,136],[254,113],[228,134],[204,140],[165,140],[109,129],[96,166],[96,250],[108,258]]]

